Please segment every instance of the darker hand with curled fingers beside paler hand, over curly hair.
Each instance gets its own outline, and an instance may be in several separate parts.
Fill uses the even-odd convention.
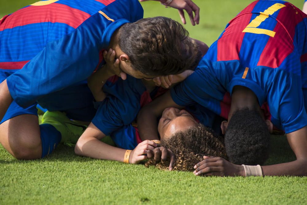
[[[169,171],[173,170],[173,164],[175,162],[175,155],[170,149],[166,149],[165,147],[157,147],[153,150],[147,151],[147,157],[152,158],[156,162],[162,162],[164,165],[166,161],[170,161],[169,163]]]

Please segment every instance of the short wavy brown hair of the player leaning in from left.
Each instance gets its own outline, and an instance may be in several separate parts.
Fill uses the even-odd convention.
[[[193,70],[201,59],[196,41],[177,21],[167,17],[143,18],[122,25],[119,47],[132,68],[145,75],[162,76]]]

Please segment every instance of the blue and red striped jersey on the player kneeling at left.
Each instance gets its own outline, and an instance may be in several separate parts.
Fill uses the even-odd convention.
[[[7,77],[13,99],[26,107],[86,79],[113,32],[142,17],[137,0],[46,0],[3,17],[0,69],[19,69]]]

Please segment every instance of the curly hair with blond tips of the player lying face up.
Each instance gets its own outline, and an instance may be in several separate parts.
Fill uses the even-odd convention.
[[[223,157],[227,159],[226,149],[215,132],[199,124],[185,131],[173,134],[171,137],[161,139],[161,146],[169,148],[173,151],[176,160],[174,170],[178,171],[194,171],[195,164],[203,160],[203,156]],[[167,170],[169,162],[164,165],[150,159],[145,166],[156,166],[161,170]]]

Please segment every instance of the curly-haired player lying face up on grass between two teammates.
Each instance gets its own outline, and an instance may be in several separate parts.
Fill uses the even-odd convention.
[[[115,52],[111,49],[109,52],[104,52],[104,59],[107,61],[104,70],[110,69],[109,67],[113,65],[114,57]],[[114,66],[118,66],[116,62]],[[99,74],[101,71],[98,70],[89,79],[89,87],[99,108],[95,118],[79,138],[75,147],[75,153],[87,157],[124,161],[133,164],[152,157],[156,161],[160,161],[161,158],[162,164],[164,164],[168,157],[170,157],[170,163],[167,166],[169,169],[173,169],[174,156],[168,155],[169,150],[165,147],[156,148],[156,141],[142,141],[138,134],[137,124],[135,122],[130,124],[142,106],[148,104],[166,90],[156,87],[155,83],[151,80],[135,79],[131,76],[127,76],[125,81],[117,76],[113,76],[104,83]],[[191,73],[192,71],[186,71],[180,75],[173,76],[173,83],[182,81]],[[101,89],[102,86],[103,90]],[[156,100],[159,100],[159,98]],[[177,137],[182,137],[182,135],[189,136],[187,139],[195,140],[195,142],[212,139],[207,144],[199,145],[200,147],[198,148],[191,147],[190,145],[181,148],[182,150],[192,149],[197,154],[209,155],[216,153],[213,156],[226,157],[225,152],[222,152],[223,145],[219,139],[215,139],[215,135],[208,135],[208,129],[199,125],[201,123],[202,125],[212,127],[215,116],[213,112],[197,103],[188,106],[186,110],[165,109],[158,125],[162,145],[165,143],[165,145],[169,146],[168,140],[165,139],[172,141],[173,137],[176,139]],[[220,130],[220,127],[218,129]],[[203,135],[194,136],[200,133],[203,133]],[[111,136],[117,147],[109,146],[100,141],[106,135]],[[218,146],[215,143],[218,143]],[[263,163],[268,156],[268,145],[267,141],[260,141],[257,144],[257,148],[249,153],[249,159],[244,158],[243,161],[247,164]],[[174,142],[173,147],[176,146],[178,144]],[[178,160],[183,160],[177,154],[175,153],[175,157],[177,157],[175,168],[185,171],[185,169],[179,168],[176,165],[179,164]],[[260,157],[262,157],[261,161],[259,161]],[[193,161],[197,161],[197,159],[199,157],[195,157]],[[241,161],[241,159],[236,160]],[[188,170],[191,170],[192,167],[189,167]]]

